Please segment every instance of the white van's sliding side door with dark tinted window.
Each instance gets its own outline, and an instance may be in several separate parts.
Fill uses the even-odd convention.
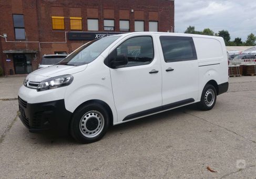
[[[175,108],[199,99],[199,72],[192,37],[160,36],[162,105]]]

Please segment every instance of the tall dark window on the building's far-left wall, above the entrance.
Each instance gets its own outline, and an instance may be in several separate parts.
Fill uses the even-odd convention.
[[[15,39],[25,40],[25,26],[24,26],[24,15],[13,14],[13,26],[15,32]]]

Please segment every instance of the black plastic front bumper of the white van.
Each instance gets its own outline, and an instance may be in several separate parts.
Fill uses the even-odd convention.
[[[72,113],[65,108],[64,99],[27,103],[18,97],[19,118],[30,132],[53,130],[68,133]]]

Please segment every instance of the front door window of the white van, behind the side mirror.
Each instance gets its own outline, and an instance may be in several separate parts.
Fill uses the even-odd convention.
[[[147,65],[153,59],[153,40],[151,36],[132,37],[124,41],[109,55],[109,60],[113,60],[118,55],[127,57],[127,65],[121,67],[132,67],[139,65]]]

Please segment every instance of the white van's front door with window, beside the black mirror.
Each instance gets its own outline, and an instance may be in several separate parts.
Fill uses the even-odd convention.
[[[152,36],[125,40],[109,55],[110,75],[118,122],[138,118],[161,106],[161,65]],[[111,67],[117,56],[126,65]]]

